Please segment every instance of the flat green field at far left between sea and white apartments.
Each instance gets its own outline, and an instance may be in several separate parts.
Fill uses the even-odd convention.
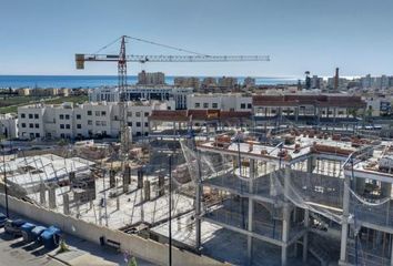
[[[0,114],[17,113],[18,106],[44,102],[47,104],[61,104],[63,102],[83,103],[88,101],[87,95],[37,98],[37,96],[7,96],[0,99]]]

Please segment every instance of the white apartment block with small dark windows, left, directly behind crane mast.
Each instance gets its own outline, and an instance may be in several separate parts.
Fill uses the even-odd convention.
[[[128,102],[128,125],[132,135],[148,135],[148,117],[152,110],[170,110],[174,103],[159,101]],[[27,105],[18,109],[20,139],[82,139],[110,136],[120,133],[119,104],[91,102],[73,106]]]

